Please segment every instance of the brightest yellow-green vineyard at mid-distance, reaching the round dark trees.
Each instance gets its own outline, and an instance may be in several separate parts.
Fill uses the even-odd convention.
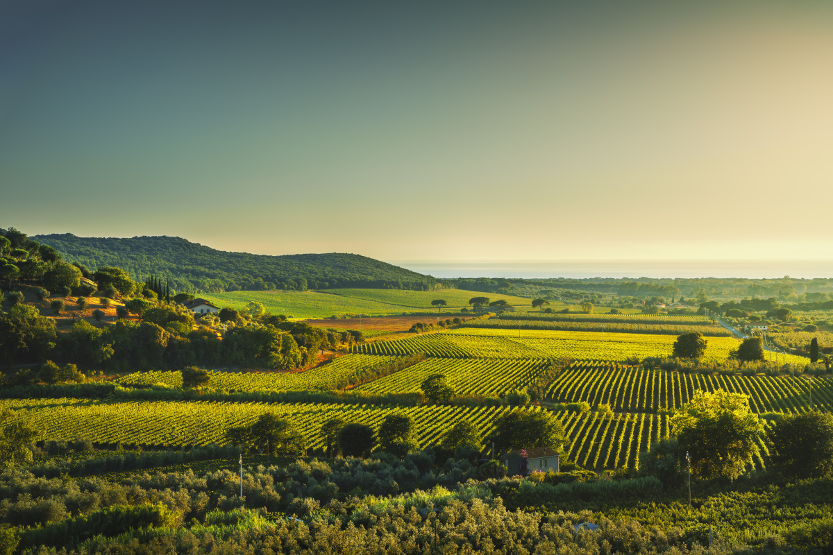
[[[594,359],[624,362],[629,357],[671,356],[676,337],[662,334],[495,330],[460,328],[439,334],[357,344],[353,352],[402,355],[424,352],[449,358]],[[706,360],[722,361],[740,342],[729,337],[708,339]],[[797,357],[796,357],[797,358]]]

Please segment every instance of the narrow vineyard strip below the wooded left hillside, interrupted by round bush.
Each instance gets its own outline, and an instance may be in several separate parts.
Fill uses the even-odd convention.
[[[391,362],[393,356],[371,356],[348,354],[331,363],[318,366],[306,372],[209,372],[212,389],[227,391],[302,391],[331,387],[355,374]],[[182,387],[182,373],[136,372],[116,380],[124,387],[147,387],[162,384],[167,387]]]

